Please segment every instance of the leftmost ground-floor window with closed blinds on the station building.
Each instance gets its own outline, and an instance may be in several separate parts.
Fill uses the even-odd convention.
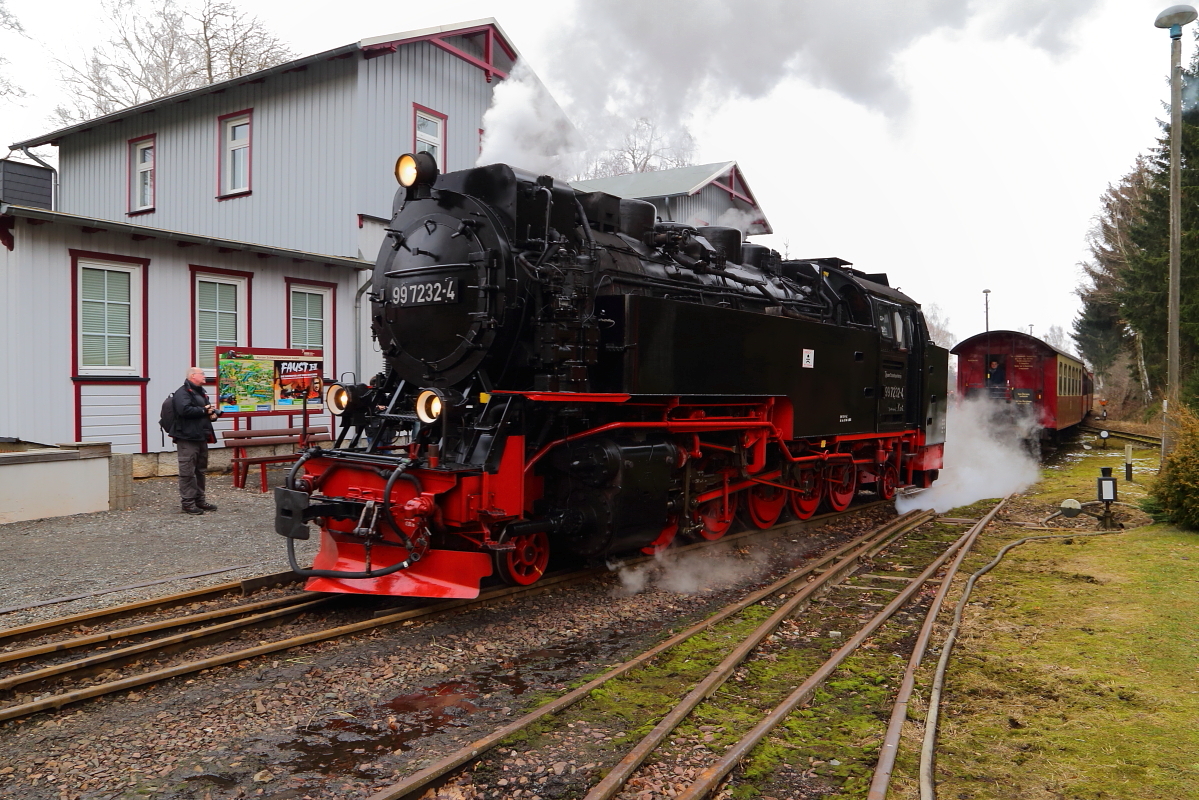
[[[137,374],[141,366],[141,267],[78,261],[79,373]]]

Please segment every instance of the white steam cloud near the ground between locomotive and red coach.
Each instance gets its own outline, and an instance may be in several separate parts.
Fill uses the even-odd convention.
[[[1036,441],[1038,429],[1031,414],[1013,419],[1013,408],[990,399],[950,405],[940,477],[932,488],[897,499],[896,511],[932,509],[944,513],[1036,483],[1041,471],[1022,440]]]

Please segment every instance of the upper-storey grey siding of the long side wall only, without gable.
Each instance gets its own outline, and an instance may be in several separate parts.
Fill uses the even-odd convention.
[[[60,210],[355,255],[353,60],[309,66],[62,139]],[[217,118],[253,109],[252,193],[218,200]],[[127,140],[157,134],[155,211],[129,218]]]

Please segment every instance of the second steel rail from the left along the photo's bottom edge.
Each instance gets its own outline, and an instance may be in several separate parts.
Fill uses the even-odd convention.
[[[680,723],[718,690],[724,681],[733,675],[733,672],[741,666],[741,662],[749,657],[749,654],[758,648],[761,642],[773,633],[783,620],[794,614],[799,608],[808,602],[817,591],[835,585],[846,572],[858,566],[861,559],[876,553],[893,537],[912,530],[933,518],[932,511],[914,512],[903,517],[904,522],[891,528],[885,535],[874,541],[863,543],[861,547],[849,553],[844,560],[836,566],[825,570],[815,581],[795,593],[787,602],[779,606],[773,614],[766,618],[752,633],[746,636],[724,660],[707,674],[704,680],[695,685],[687,696],[670,710],[653,729],[646,734],[641,741],[631,750],[595,787],[588,792],[584,800],[610,800],[615,796],[633,776],[633,772],[649,758],[650,753],[658,748],[667,736],[679,727]]]

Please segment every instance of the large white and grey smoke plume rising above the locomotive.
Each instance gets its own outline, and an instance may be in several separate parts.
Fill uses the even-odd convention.
[[[583,163],[574,160],[583,145],[616,146],[629,120],[651,120],[669,138],[693,116],[719,114],[730,98],[765,97],[790,78],[897,119],[908,106],[902,56],[920,40],[971,28],[1058,55],[1068,49],[1074,20],[1096,4],[576,0],[556,8],[542,72],[582,133],[559,124],[556,104],[518,66],[496,88],[478,163],[568,176]]]

